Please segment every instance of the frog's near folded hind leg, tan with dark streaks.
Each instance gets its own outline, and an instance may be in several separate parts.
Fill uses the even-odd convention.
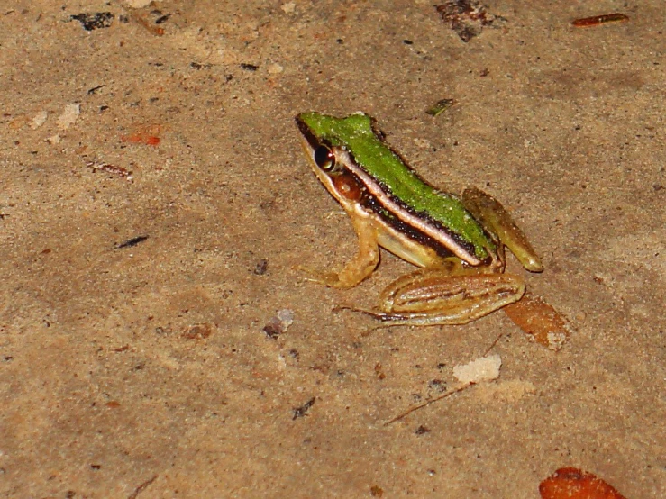
[[[465,324],[517,302],[525,281],[488,268],[463,267],[447,259],[440,268],[425,268],[399,277],[379,296],[383,322],[404,325]]]

